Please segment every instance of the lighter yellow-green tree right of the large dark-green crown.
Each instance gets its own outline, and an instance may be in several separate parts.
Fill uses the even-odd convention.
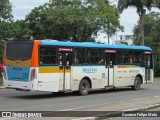
[[[109,44],[109,38],[115,32],[123,30],[123,26],[120,25],[118,20],[118,9],[115,6],[111,6],[108,0],[85,0],[85,3],[88,3],[87,6],[90,5],[95,11],[98,18],[97,24],[101,27],[101,31],[107,34]]]

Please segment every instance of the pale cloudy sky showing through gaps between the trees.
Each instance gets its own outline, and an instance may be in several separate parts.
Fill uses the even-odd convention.
[[[14,20],[25,19],[25,16],[28,15],[34,7],[38,7],[39,5],[43,5],[49,0],[10,0],[13,6],[13,16]],[[116,4],[117,0],[114,0],[112,4]],[[160,11],[158,9],[153,9],[153,11]],[[117,32],[115,36],[111,39],[119,39],[119,35],[132,35],[134,25],[137,24],[139,20],[139,16],[136,13],[136,9],[134,7],[130,7],[123,11],[120,15],[120,24],[124,26],[124,32]],[[104,39],[104,40],[103,40]],[[106,41],[106,34],[100,33],[97,40],[98,41]]]

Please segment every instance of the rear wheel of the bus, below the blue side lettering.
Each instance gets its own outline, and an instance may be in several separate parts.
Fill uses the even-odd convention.
[[[89,92],[89,82],[86,79],[83,79],[79,85],[79,93],[80,95],[87,95]]]

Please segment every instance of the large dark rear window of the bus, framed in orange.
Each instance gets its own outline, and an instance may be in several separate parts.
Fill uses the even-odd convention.
[[[10,41],[7,43],[6,58],[10,60],[31,59],[33,41]]]

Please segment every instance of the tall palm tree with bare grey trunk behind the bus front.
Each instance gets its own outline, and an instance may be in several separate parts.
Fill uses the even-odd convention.
[[[146,9],[151,10],[152,7],[158,7],[159,0],[119,0],[118,1],[118,9],[122,12],[124,9],[127,9],[130,6],[134,6],[137,8],[137,13],[140,17],[140,32],[139,39],[140,44],[144,45],[144,15],[146,13]]]

